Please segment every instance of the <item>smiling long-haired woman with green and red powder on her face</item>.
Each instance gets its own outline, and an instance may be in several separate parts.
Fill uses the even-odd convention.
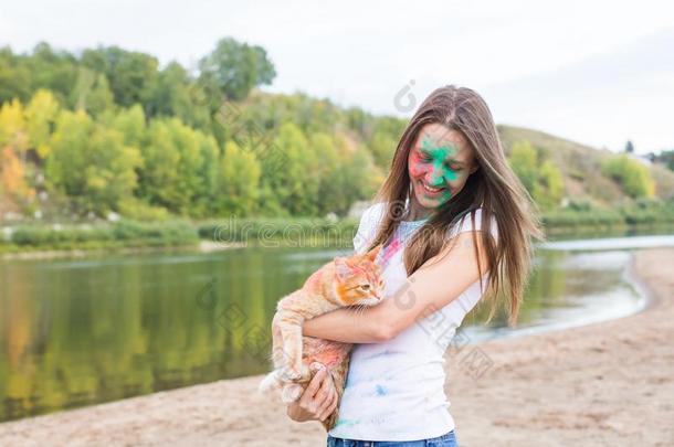
[[[354,246],[383,244],[386,299],[303,326],[310,337],[358,343],[328,446],[456,446],[444,354],[481,298],[517,320],[531,240],[530,196],[508,167],[492,114],[474,91],[438,88],[404,130],[391,171],[360,220]],[[322,369],[295,421],[324,421],[336,391]]]

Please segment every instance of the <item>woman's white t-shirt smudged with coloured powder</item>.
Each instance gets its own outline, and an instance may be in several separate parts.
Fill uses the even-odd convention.
[[[362,253],[376,235],[386,212],[383,203],[366,210],[354,247]],[[482,210],[475,211],[475,228],[470,214],[454,226],[452,235],[480,230]],[[385,299],[408,287],[402,253],[424,221],[401,222],[394,237],[377,258],[383,268]],[[496,220],[492,235],[497,237]],[[451,274],[447,277],[451,280]],[[482,277],[486,289],[488,274]],[[444,435],[454,429],[444,393],[444,353],[465,315],[482,297],[480,281],[435,312],[429,312],[396,338],[381,343],[360,343],[351,351],[351,361],[339,419],[329,432],[334,437],[362,440],[417,440]],[[406,298],[401,296],[404,305]]]

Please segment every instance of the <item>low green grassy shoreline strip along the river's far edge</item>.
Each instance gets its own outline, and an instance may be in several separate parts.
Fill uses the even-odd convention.
[[[665,215],[674,213],[674,209],[671,213],[667,210],[663,210]],[[643,232],[670,234],[674,231],[674,216],[662,222],[639,222],[630,213],[623,215],[614,211],[613,214],[614,219],[605,221],[589,212],[551,213],[544,216],[546,234],[564,240],[568,236],[622,237]],[[618,219],[619,215],[622,217]],[[358,220],[348,217],[337,221],[319,217],[251,217],[191,223],[124,221],[98,224],[27,223],[13,226],[3,226],[0,222],[0,260],[85,257],[102,253],[211,253],[246,246],[344,245],[350,248],[357,227]]]

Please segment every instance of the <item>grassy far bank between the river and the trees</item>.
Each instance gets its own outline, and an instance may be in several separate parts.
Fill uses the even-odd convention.
[[[642,203],[613,210],[566,209],[543,215],[548,236],[615,231],[647,231],[674,225],[673,203]],[[197,246],[200,241],[259,246],[343,246],[358,221],[345,219],[223,219],[208,222],[101,224],[30,223],[3,227],[0,253],[115,247]]]

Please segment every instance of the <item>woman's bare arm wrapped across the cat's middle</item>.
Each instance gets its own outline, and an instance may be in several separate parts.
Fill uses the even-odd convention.
[[[377,343],[394,338],[420,317],[425,317],[456,299],[480,278],[488,263],[482,240],[474,232],[453,237],[443,252],[407,279],[396,292],[377,306],[354,310],[337,309],[303,324],[303,334],[345,343]],[[475,249],[477,244],[477,249]],[[477,253],[476,253],[477,252]]]

